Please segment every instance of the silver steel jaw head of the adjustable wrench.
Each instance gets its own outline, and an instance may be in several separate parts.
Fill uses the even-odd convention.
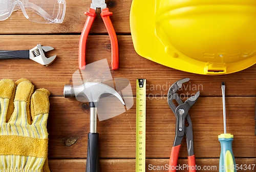
[[[33,49],[29,50],[29,58],[31,60],[34,60],[35,62],[40,63],[41,65],[49,66],[56,59],[57,55],[47,58],[45,56],[45,53],[53,49],[53,47],[41,46],[40,44],[38,44]]]

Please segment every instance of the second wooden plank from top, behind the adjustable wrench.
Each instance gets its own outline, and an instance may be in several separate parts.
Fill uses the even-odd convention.
[[[32,60],[2,60],[0,78],[30,79],[36,88],[48,89],[52,96],[63,96],[63,86],[72,84],[72,75],[78,69],[79,35],[1,35],[3,50],[32,49],[37,44],[54,47],[47,56],[57,54],[55,62],[44,67]],[[256,66],[221,76],[191,74],[167,68],[136,54],[129,35],[118,36],[119,69],[112,71],[112,77],[127,78],[131,81],[135,96],[136,79],[147,79],[149,96],[167,96],[169,87],[179,79],[189,77],[179,92],[184,96],[200,91],[201,96],[221,96],[221,82],[226,83],[226,96],[256,96]],[[17,42],[22,42],[22,44]],[[86,52],[87,64],[108,59],[111,66],[110,39],[106,35],[89,36]]]

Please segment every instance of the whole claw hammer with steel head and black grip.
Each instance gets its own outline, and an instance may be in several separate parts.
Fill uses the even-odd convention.
[[[121,96],[111,87],[98,82],[85,82],[76,87],[66,84],[64,87],[64,97],[75,97],[85,95],[90,102],[90,133],[88,133],[86,172],[100,172],[99,166],[99,134],[97,133],[97,102],[104,93],[115,95],[124,104]]]

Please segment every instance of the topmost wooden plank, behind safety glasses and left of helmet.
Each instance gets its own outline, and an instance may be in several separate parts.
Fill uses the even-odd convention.
[[[90,1],[66,0],[66,15],[62,24],[38,24],[28,20],[22,13],[22,10],[14,11],[12,15],[1,21],[1,34],[80,34],[87,16],[84,12],[90,8]],[[108,0],[105,1],[107,7],[113,16],[111,21],[117,34],[129,34],[129,16],[132,1],[129,0]],[[100,11],[97,11],[97,17],[91,28],[92,34],[108,34],[103,21],[100,17]]]

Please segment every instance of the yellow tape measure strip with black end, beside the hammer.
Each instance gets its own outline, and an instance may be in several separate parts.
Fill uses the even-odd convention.
[[[136,172],[146,171],[146,79],[136,82]]]

